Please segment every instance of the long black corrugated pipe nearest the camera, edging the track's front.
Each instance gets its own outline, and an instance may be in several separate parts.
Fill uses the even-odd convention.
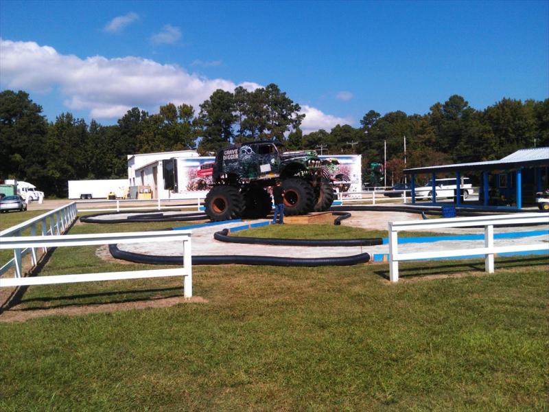
[[[183,264],[183,256],[143,255],[121,251],[115,244],[109,244],[108,250],[116,259],[128,260],[144,264]],[[272,256],[249,255],[220,255],[220,256],[193,256],[191,264],[249,264],[265,266],[351,266],[353,264],[367,263],[370,261],[369,253],[342,256],[338,258],[279,258]]]

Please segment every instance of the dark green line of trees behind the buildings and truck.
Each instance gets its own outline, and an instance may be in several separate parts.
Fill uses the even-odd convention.
[[[216,90],[195,110],[168,103],[159,113],[137,107],[103,126],[62,113],[47,122],[25,91],[0,93],[0,178],[34,183],[66,196],[67,181],[127,177],[127,155],[172,150],[215,152],[234,142],[279,139],[290,150],[362,155],[364,181],[384,161],[393,181],[404,169],[500,159],[520,148],[549,146],[549,99],[503,98],[476,110],[460,95],[436,102],[425,115],[368,111],[360,127],[338,124],[303,134],[305,115],[276,84],[247,91]],[[388,182],[390,183],[390,181]]]

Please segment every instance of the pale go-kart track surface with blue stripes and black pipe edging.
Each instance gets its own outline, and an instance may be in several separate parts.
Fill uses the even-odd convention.
[[[336,208],[334,208],[336,209]],[[125,219],[145,220],[173,220],[175,215],[180,218],[185,214],[174,211],[150,214],[137,212],[132,214],[100,214],[84,221],[93,222],[121,222]],[[189,218],[198,220],[198,214],[192,214]],[[334,216],[334,219],[336,216]],[[181,218],[180,220],[183,220]],[[351,216],[342,220],[341,225],[361,227],[371,230],[386,230],[388,222],[402,220],[418,220],[421,214],[418,211],[407,213],[406,211],[379,211],[358,210],[351,211]],[[141,220],[143,221],[143,220]],[[358,246],[296,246],[296,245],[270,245],[258,244],[254,239],[248,243],[228,243],[214,238],[222,239],[224,235],[230,236],[231,232],[245,230],[250,227],[268,225],[270,220],[231,220],[225,222],[205,222],[191,226],[178,226],[174,222],[174,230],[192,231],[192,255],[193,264],[272,264],[277,266],[321,266],[321,265],[348,265],[368,261],[386,261],[388,259],[388,244],[386,239],[371,239],[359,242]],[[399,238],[401,252],[423,251],[428,247],[432,251],[447,249],[473,249],[482,247],[484,242],[483,228],[452,228],[434,230],[440,232],[440,236],[425,236],[421,238]],[[229,232],[229,233],[227,233]],[[452,233],[449,236],[448,233]],[[357,240],[358,241],[358,240]],[[549,231],[544,225],[533,227],[497,227],[495,229],[495,246],[511,246],[529,244],[533,241],[548,242]],[[306,242],[306,241],[303,241]],[[346,241],[335,241],[346,242]],[[428,246],[427,246],[428,245]],[[134,262],[146,262],[154,264],[176,264],[182,262],[181,245],[174,244],[124,244],[112,247],[111,253],[115,258],[122,258]],[[533,252],[535,253],[535,252]],[[539,253],[539,252],[538,252]],[[544,251],[544,253],[547,253]],[[530,253],[520,253],[530,254]],[[468,256],[470,257],[470,256]]]

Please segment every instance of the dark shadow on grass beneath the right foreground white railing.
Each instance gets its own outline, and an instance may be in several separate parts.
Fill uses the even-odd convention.
[[[430,277],[436,275],[449,276],[451,275],[467,275],[468,272],[478,273],[484,272],[484,260],[471,260],[471,262],[463,262],[452,260],[452,262],[441,262],[432,260],[432,261],[423,261],[424,266],[417,266],[417,262],[406,262],[404,265],[401,263],[399,265],[399,278],[400,279],[419,279],[421,277]],[[506,260],[496,260],[495,261],[495,271],[497,273],[498,269],[509,269],[523,267],[524,265],[531,266],[547,266],[549,260],[546,257],[539,258],[513,258]],[[407,264],[414,264],[413,267],[407,267]],[[389,280],[389,271],[374,271],[375,275],[382,277],[383,279]]]

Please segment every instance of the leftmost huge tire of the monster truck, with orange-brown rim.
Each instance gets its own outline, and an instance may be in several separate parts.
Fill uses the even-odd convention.
[[[213,186],[206,195],[204,205],[206,214],[214,222],[232,220],[242,216],[244,198],[236,187]]]

